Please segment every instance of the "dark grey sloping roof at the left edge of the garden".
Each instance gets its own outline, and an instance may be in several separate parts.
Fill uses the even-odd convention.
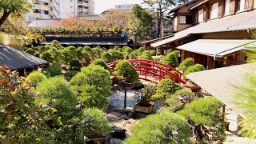
[[[0,45],[0,66],[6,65],[11,70],[18,70],[44,64],[48,64],[48,62],[10,46]]]

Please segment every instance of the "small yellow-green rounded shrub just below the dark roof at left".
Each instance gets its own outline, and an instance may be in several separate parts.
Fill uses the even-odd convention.
[[[33,71],[25,78],[25,81],[30,82],[32,85],[37,85],[39,82],[42,82],[45,79],[46,79],[45,74],[42,74],[38,71]]]

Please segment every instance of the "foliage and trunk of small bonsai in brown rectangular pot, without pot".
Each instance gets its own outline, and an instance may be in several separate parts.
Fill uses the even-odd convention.
[[[156,93],[155,91],[156,86],[154,85],[146,85],[144,88],[142,88],[142,99],[140,102],[142,103],[149,103],[152,95]]]

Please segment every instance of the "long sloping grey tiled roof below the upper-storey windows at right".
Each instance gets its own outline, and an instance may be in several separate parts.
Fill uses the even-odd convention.
[[[151,44],[153,47],[165,45],[174,42],[180,38],[186,38],[190,34],[206,34],[214,32],[225,32],[235,30],[254,30],[256,29],[256,11],[248,11],[240,14],[216,18],[207,22],[198,23],[185,30],[174,34],[174,37]]]

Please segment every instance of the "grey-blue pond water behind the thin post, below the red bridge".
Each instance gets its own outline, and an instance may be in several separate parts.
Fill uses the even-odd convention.
[[[138,90],[127,90],[127,108],[133,108],[138,100],[141,98],[141,92]],[[110,96],[110,106],[123,108],[125,98],[125,90],[113,90]]]

